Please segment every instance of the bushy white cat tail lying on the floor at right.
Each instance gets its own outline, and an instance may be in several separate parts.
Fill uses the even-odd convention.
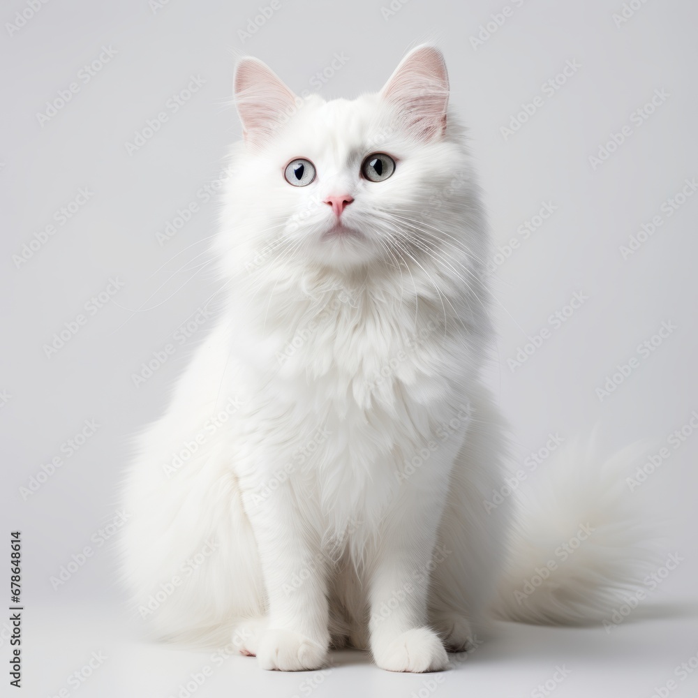
[[[568,443],[514,493],[505,572],[494,615],[544,625],[609,621],[646,597],[660,559],[658,523],[635,473],[647,443],[602,461],[595,438]],[[642,591],[644,589],[644,592]]]

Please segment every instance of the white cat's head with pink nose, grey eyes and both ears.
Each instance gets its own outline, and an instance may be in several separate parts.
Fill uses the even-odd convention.
[[[475,200],[448,97],[445,61],[428,45],[380,92],[353,101],[301,99],[262,61],[241,59],[231,235],[247,236],[262,258],[299,265],[433,257]]]

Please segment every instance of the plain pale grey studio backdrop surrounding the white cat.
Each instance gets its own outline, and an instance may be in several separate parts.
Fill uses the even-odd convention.
[[[144,641],[140,619],[127,617],[114,583],[110,544],[118,531],[99,547],[91,537],[116,515],[131,436],[161,413],[191,348],[209,329],[200,325],[151,378],[134,385],[141,365],[216,290],[195,266],[206,259],[197,255],[216,229],[217,211],[198,191],[220,177],[225,150],[239,138],[230,101],[237,55],[266,61],[301,93],[318,84],[318,72],[330,75],[341,54],[345,64],[322,83],[330,98],[380,89],[416,43],[436,40],[443,48],[452,107],[470,126],[493,237],[503,248],[519,241],[493,277],[500,339],[488,380],[521,458],[550,432],[584,436],[595,424],[602,452],[640,438],[662,445],[698,410],[698,195],[670,217],[662,211],[685,179],[698,176],[695,3],[633,0],[639,8],[616,26],[620,0],[512,0],[509,16],[498,17],[503,23],[477,46],[471,37],[502,13],[503,1],[396,1],[396,11],[385,11],[386,0],[279,0],[247,36],[240,32],[267,0],[160,5],[51,0],[19,29],[6,22],[17,22],[27,4],[11,0],[0,10],[0,391],[8,396],[0,408],[2,510],[3,530],[20,529],[24,540],[23,695],[32,698],[61,689],[64,696],[164,698],[178,695],[191,673],[214,666],[208,653]],[[103,47],[116,54],[84,82],[82,67],[98,61]],[[548,97],[543,84],[567,61],[580,67]],[[205,84],[174,113],[168,100],[191,76]],[[71,82],[79,89],[70,101],[49,119],[38,117]],[[632,114],[655,91],[668,96],[635,124]],[[505,138],[500,127],[536,96],[542,106]],[[129,154],[126,143],[163,111],[168,121]],[[624,125],[632,134],[594,168],[590,156]],[[91,192],[89,200],[59,225],[54,212],[80,188]],[[200,204],[198,211],[158,244],[156,233],[190,202]],[[523,240],[517,228],[544,202],[556,210]],[[620,246],[656,215],[662,225],[624,260]],[[50,223],[55,234],[15,263],[13,255]],[[45,344],[86,314],[84,304],[110,277],[124,287],[47,356]],[[549,315],[574,292],[588,300],[554,329]],[[662,322],[677,329],[641,358],[639,343]],[[512,371],[507,359],[543,327],[549,339]],[[600,399],[597,388],[631,357],[637,369]],[[22,494],[42,465],[65,456],[61,446],[90,419],[100,425],[94,436],[42,476],[36,491]],[[612,632],[503,624],[498,637],[438,675],[440,683],[429,683],[436,675],[387,674],[357,652],[338,653],[326,676],[262,673],[253,660],[236,657],[215,667],[192,695],[528,696],[565,664],[571,673],[556,696],[649,697],[698,653],[695,615],[676,606],[692,595],[698,572],[697,454],[698,436],[689,436],[643,485],[673,521],[667,551],[684,561]],[[94,554],[54,589],[50,578],[87,545]],[[2,646],[6,662],[6,639]],[[106,659],[72,688],[68,676],[93,652]],[[318,677],[318,688],[302,683]],[[1,681],[6,695],[4,673]],[[677,681],[671,695],[688,697],[697,688],[693,675]]]

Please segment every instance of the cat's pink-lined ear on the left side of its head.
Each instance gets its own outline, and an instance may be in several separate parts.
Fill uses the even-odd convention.
[[[265,63],[245,57],[235,66],[235,105],[246,142],[260,145],[295,110],[297,97]]]

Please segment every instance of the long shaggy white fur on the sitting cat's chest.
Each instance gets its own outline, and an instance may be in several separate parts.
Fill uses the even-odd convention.
[[[280,313],[285,322],[275,332],[267,324],[264,343],[278,368],[251,396],[247,443],[266,454],[253,491],[265,497],[288,483],[318,503],[307,513],[335,540],[357,522],[375,526],[405,463],[433,443],[456,399],[435,366],[444,351],[438,318],[371,300],[338,293]]]

